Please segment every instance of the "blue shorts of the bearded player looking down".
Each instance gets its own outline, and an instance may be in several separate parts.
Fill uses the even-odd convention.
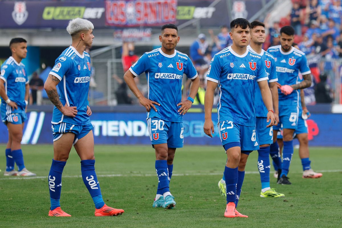
[[[283,128],[297,129],[298,117],[299,107],[297,105],[279,105],[279,120]],[[276,128],[273,129],[277,130]]]

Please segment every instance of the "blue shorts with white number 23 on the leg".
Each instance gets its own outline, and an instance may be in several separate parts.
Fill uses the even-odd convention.
[[[259,140],[255,127],[244,126],[233,121],[221,121],[218,124],[222,146],[233,142],[239,143],[241,151],[259,150]],[[237,145],[236,145],[237,146]]]

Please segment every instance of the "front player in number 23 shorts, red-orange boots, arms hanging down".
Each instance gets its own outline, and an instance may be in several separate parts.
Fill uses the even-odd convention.
[[[245,176],[250,152],[259,149],[255,126],[254,94],[258,82],[267,108],[267,127],[273,126],[273,104],[268,77],[261,56],[247,49],[250,23],[244,18],[231,22],[233,44],[214,55],[207,73],[204,132],[212,137],[211,119],[214,91],[219,84],[218,127],[222,145],[227,153],[224,170],[227,205],[225,217],[248,217],[235,209]]]

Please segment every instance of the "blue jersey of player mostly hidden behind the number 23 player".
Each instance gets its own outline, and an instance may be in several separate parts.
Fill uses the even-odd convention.
[[[255,52],[251,46],[248,45],[248,48]],[[268,77],[268,82],[276,82],[278,81],[277,72],[276,72],[276,64],[274,62],[274,57],[262,49],[261,60],[265,64],[265,70]],[[261,92],[259,85],[255,83],[255,116],[256,117],[267,117],[267,108],[262,100]]]

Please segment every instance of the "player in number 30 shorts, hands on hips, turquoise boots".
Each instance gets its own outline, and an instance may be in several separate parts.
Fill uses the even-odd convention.
[[[194,102],[199,87],[199,77],[190,58],[175,50],[179,39],[175,25],[163,25],[159,36],[161,48],[143,54],[124,74],[129,88],[146,108],[149,136],[156,153],[158,188],[152,206],[167,209],[176,205],[169,182],[176,148],[183,147],[183,115]],[[143,72],[148,83],[147,98],[134,81]],[[182,101],[183,74],[191,80],[191,85],[189,97]]]

